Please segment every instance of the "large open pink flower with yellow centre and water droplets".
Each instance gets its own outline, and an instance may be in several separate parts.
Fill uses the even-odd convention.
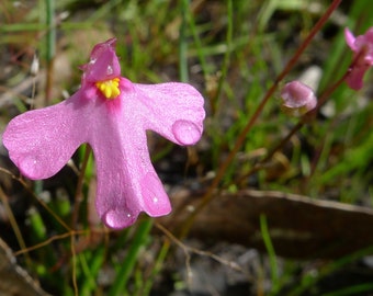
[[[115,38],[95,45],[81,68],[81,88],[71,98],[9,123],[3,144],[10,158],[25,177],[46,179],[88,143],[98,174],[95,206],[106,226],[127,227],[140,212],[169,214],[146,130],[179,145],[195,144],[205,116],[202,95],[187,83],[137,84],[121,77]]]

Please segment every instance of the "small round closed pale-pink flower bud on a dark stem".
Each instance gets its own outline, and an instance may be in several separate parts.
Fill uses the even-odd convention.
[[[291,116],[302,116],[316,107],[317,98],[314,91],[299,81],[285,84],[281,91],[282,110]]]

